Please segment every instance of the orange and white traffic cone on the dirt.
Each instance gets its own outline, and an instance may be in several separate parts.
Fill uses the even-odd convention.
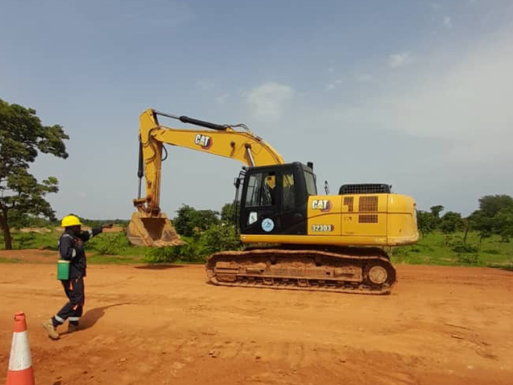
[[[6,385],[34,385],[27,323],[23,312],[14,315],[14,333]]]

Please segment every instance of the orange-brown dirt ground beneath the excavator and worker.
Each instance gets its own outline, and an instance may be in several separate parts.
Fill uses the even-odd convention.
[[[217,287],[203,266],[92,265],[83,330],[53,264],[0,264],[0,382],[28,317],[38,385],[510,384],[513,273],[399,265],[388,296]]]

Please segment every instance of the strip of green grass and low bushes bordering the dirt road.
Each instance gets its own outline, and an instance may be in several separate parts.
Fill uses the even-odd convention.
[[[125,233],[100,234],[86,243],[88,262],[92,264],[124,263],[203,263],[205,259],[222,249],[240,246],[232,227],[215,226],[195,237],[183,237],[184,246],[148,248],[133,246]],[[48,249],[57,253],[60,234],[14,233],[14,249]],[[0,249],[4,248],[0,236]],[[463,243],[463,233],[444,235],[431,233],[417,244],[402,247],[386,247],[393,263],[427,264],[442,266],[489,266],[513,270],[513,242],[503,242],[500,236],[480,239],[477,233],[469,233]],[[21,262],[15,258],[0,258],[0,263]]]

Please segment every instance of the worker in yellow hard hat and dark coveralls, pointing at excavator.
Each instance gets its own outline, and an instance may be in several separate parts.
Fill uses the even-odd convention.
[[[84,277],[87,263],[84,242],[102,233],[104,228],[112,227],[112,224],[105,224],[89,231],[82,231],[81,225],[80,219],[74,215],[68,215],[62,220],[64,233],[58,241],[58,248],[61,259],[70,261],[68,279],[61,280],[69,301],[56,315],[43,322],[43,328],[51,339],[59,338],[57,326],[62,325],[66,320],[69,321],[68,333],[78,329],[85,299]]]

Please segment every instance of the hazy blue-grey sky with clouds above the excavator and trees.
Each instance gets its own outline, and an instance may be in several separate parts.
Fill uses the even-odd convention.
[[[31,168],[57,177],[57,217],[130,218],[147,108],[245,123],[287,162],[312,161],[320,192],[388,183],[464,215],[513,195],[511,0],[0,4],[0,98],[70,136],[68,159]],[[242,164],[168,151],[168,216],[233,199]]]

